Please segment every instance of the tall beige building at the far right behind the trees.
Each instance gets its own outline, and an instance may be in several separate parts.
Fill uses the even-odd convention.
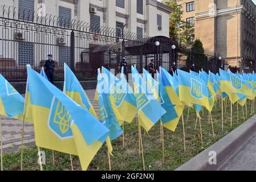
[[[251,0],[177,0],[194,38],[216,51],[222,63],[255,67],[255,5]]]

